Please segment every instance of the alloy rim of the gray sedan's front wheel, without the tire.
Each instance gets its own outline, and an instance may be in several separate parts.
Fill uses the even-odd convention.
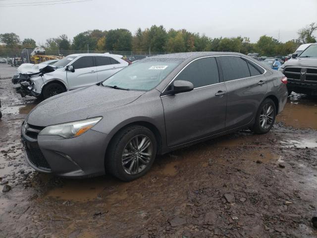
[[[139,174],[148,166],[152,155],[151,139],[146,135],[134,136],[128,141],[122,152],[122,167],[127,174]]]

